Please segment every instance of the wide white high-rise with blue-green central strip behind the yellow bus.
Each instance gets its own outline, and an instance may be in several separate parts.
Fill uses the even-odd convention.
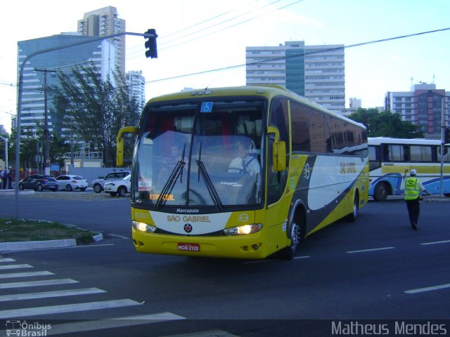
[[[345,112],[345,53],[343,44],[285,45],[245,48],[246,84],[276,84],[343,114]]]

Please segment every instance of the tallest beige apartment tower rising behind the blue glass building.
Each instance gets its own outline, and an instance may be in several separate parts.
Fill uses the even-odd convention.
[[[78,32],[88,37],[104,37],[105,35],[126,32],[125,20],[119,18],[117,8],[108,6],[84,13],[78,20]],[[110,39],[115,46],[117,69],[125,74],[125,36]]]

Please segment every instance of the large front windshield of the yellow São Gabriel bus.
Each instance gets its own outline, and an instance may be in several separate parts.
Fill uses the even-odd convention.
[[[131,201],[166,206],[262,202],[262,98],[150,103],[131,174]]]

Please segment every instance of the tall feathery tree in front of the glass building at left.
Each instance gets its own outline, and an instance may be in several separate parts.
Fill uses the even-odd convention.
[[[113,79],[103,80],[91,65],[77,67],[71,74],[58,72],[58,83],[51,90],[61,133],[71,133],[75,141],[102,151],[109,165],[115,158],[119,129],[139,121],[138,104],[130,97],[125,79],[113,72]]]

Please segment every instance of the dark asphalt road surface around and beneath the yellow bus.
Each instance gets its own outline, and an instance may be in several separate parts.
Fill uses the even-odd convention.
[[[345,327],[361,332],[373,326],[396,336],[407,322],[421,332],[438,324],[440,332],[450,333],[449,202],[423,201],[418,231],[409,227],[404,201],[371,202],[355,223],[335,223],[308,237],[294,260],[247,261],[136,253],[129,239],[129,199],[68,193],[20,197],[20,216],[72,223],[104,232],[106,239],[70,249],[1,253],[0,261],[6,260],[0,262],[0,319],[49,320],[53,333],[64,329],[63,336],[344,336],[352,332]],[[0,196],[0,202],[4,214],[14,200]],[[8,265],[30,267],[2,269]],[[31,270],[53,275],[4,278]],[[48,279],[72,283],[4,286]],[[102,292],[1,297],[77,289]],[[139,315],[150,316],[139,321]],[[101,329],[105,322],[120,324]]]

